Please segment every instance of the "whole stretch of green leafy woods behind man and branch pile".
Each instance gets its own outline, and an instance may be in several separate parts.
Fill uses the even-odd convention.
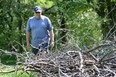
[[[72,31],[73,36],[76,36],[73,38],[79,40],[82,47],[94,43],[92,39],[96,41],[115,39],[115,0],[4,0],[0,3],[1,49],[10,50],[12,45],[14,46],[13,41],[25,46],[25,27],[27,19],[33,16],[32,10],[35,5],[43,7],[43,14],[50,17],[56,37],[62,37],[59,43],[66,44],[68,42],[66,40],[70,39],[66,34]],[[59,46],[58,43],[56,45]],[[23,51],[19,45],[18,49],[19,52]]]

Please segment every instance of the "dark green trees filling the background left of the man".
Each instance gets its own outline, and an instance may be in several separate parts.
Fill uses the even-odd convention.
[[[25,44],[23,39],[25,39],[26,20],[33,14],[32,2],[34,1],[0,1],[0,46],[2,49],[11,50],[12,46],[16,45],[18,52],[22,52],[22,45]]]

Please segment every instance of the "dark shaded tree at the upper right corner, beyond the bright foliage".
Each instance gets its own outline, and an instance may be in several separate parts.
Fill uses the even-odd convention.
[[[116,0],[87,0],[93,5],[93,10],[102,18],[102,33],[104,40],[114,40],[116,35]]]

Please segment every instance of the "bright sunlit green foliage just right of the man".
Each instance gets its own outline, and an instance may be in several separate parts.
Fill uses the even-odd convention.
[[[92,10],[92,6],[85,0],[59,0],[54,1],[54,3],[54,7],[51,9],[52,13],[49,17],[55,26],[56,40],[62,38],[60,37],[61,31],[65,30],[59,29],[63,17],[66,20],[67,35],[65,37],[67,37],[68,41],[72,40],[70,42],[73,42],[78,40],[81,47],[89,47],[102,39],[100,27],[101,19]],[[60,40],[56,44],[59,45]]]

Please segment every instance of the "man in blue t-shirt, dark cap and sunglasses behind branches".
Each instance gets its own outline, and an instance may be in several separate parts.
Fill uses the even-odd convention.
[[[30,36],[32,36],[30,45]],[[26,26],[27,48],[32,47],[32,53],[47,52],[49,44],[54,47],[54,33],[51,21],[42,15],[42,8],[34,7],[34,16],[28,19]],[[38,52],[39,51],[39,52]]]

